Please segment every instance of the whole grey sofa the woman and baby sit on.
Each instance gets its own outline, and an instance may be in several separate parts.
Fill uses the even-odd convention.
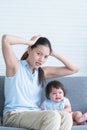
[[[55,78],[61,81],[66,89],[66,96],[70,99],[73,111],[87,112],[87,77]],[[47,80],[46,83],[49,81]],[[44,99],[44,91],[43,91]],[[4,127],[2,125],[2,112],[4,107],[4,76],[0,76],[0,130],[27,130],[24,128]],[[72,126],[72,130],[87,130],[87,124]]]

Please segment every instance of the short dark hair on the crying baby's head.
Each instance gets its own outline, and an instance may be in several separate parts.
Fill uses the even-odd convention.
[[[64,96],[65,96],[64,85],[63,85],[60,81],[58,81],[58,80],[53,80],[53,81],[50,81],[50,82],[47,84],[46,88],[45,88],[46,98],[50,99],[50,98],[49,98],[49,95],[50,95],[50,93],[51,93],[51,91],[52,91],[52,88],[56,88],[56,89],[59,89],[59,88],[60,88],[60,89],[62,89],[63,92],[64,92]]]

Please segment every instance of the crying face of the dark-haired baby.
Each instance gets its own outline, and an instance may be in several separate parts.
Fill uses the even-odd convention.
[[[54,102],[60,102],[64,98],[64,92],[61,88],[59,89],[52,88],[49,97]]]

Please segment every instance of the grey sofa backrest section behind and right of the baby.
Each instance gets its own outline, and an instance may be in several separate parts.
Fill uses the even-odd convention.
[[[73,111],[87,112],[87,77],[54,78],[47,80],[46,84],[51,80],[59,80],[63,83]]]

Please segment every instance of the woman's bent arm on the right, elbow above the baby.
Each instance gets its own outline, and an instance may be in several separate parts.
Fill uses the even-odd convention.
[[[52,51],[51,56],[55,57],[63,65],[43,67],[45,78],[55,78],[71,75],[78,72],[80,69],[76,63],[63,55],[56,53],[55,51]]]

